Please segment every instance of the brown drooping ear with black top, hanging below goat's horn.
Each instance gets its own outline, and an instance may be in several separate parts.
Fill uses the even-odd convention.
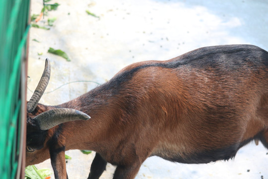
[[[68,179],[66,171],[65,146],[50,147],[49,152],[55,179]]]

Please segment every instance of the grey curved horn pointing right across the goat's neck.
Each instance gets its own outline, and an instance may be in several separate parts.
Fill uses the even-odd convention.
[[[41,130],[48,130],[61,123],[73,120],[87,120],[91,117],[81,111],[69,108],[51,109],[43,112],[33,119],[40,124]]]

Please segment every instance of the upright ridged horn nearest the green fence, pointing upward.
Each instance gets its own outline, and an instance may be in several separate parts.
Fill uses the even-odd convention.
[[[48,86],[49,78],[50,78],[50,63],[49,63],[49,59],[47,58],[43,75],[42,75],[32,97],[31,97],[31,99],[27,103],[27,111],[28,112],[32,112],[36,108],[38,101],[40,100],[45,89]]]

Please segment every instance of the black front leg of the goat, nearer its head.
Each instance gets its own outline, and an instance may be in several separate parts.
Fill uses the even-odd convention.
[[[95,158],[90,167],[90,173],[87,179],[99,179],[106,170],[107,161],[100,154],[96,153]]]

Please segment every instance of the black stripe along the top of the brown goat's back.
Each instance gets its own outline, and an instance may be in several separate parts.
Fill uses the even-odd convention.
[[[249,66],[249,63],[251,66]],[[118,74],[108,82],[109,87],[121,87],[121,84],[128,82],[134,73],[149,67],[161,67],[175,69],[187,65],[190,69],[213,69],[215,74],[220,72],[236,71],[241,66],[248,66],[255,69],[267,65],[268,52],[253,45],[223,45],[203,47],[183,54],[168,62],[145,64],[131,70]],[[108,87],[108,88],[109,88]]]

